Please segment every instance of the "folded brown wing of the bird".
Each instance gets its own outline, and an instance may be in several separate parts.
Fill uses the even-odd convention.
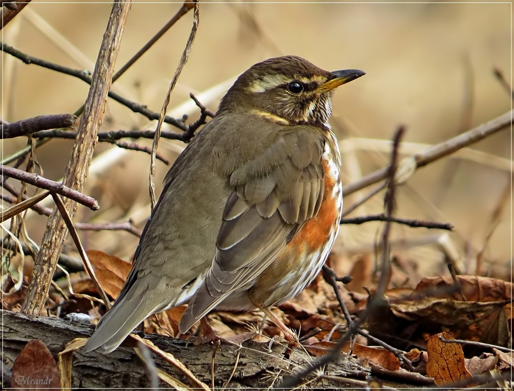
[[[182,315],[181,332],[232,292],[249,288],[305,221],[318,214],[324,191],[324,139],[314,128],[289,129],[277,134],[264,153],[230,174],[232,191],[216,254]]]

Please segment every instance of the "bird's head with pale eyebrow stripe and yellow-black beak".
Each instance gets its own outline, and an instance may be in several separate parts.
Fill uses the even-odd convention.
[[[358,69],[328,72],[297,56],[271,58],[237,78],[217,114],[242,109],[282,125],[328,127],[334,88],[364,74]]]

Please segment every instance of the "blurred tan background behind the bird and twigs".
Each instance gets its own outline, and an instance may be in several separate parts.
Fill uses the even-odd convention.
[[[181,4],[139,2],[132,7],[118,56],[119,69],[171,17]],[[3,41],[28,55],[71,68],[93,70],[111,5],[31,2],[3,29]],[[198,118],[193,92],[212,111],[231,82],[256,62],[280,55],[302,56],[327,69],[358,68],[366,76],[339,88],[332,125],[341,141],[344,184],[384,167],[390,139],[406,127],[402,156],[441,143],[510,110],[510,4],[259,4],[200,3],[200,24],[189,62],[172,94],[168,114]],[[114,85],[113,91],[159,112],[192,26],[182,17]],[[75,112],[88,85],[3,55],[3,119]],[[152,129],[124,106],[108,101],[102,130]],[[165,129],[166,126],[164,127]],[[175,130],[176,129],[171,129]],[[149,140],[135,140],[151,145]],[[26,137],[5,140],[3,155],[26,145]],[[60,180],[72,141],[52,140],[37,151],[44,176]],[[161,139],[159,152],[172,161],[183,148]],[[508,129],[472,145],[466,153],[435,162],[398,189],[397,216],[455,225],[445,233],[395,225],[393,254],[407,279],[447,274],[445,257],[473,274],[510,279],[510,154]],[[132,219],[142,229],[150,213],[150,156],[99,144],[84,192],[101,206],[80,207],[77,222]],[[157,163],[156,184],[168,167]],[[374,186],[345,199],[345,207]],[[160,189],[160,187],[159,187]],[[53,207],[51,203],[47,206]],[[383,211],[383,192],[348,217]],[[497,212],[495,212],[497,211]],[[172,218],[172,217],[171,217]],[[29,236],[39,243],[46,218],[31,213]],[[350,273],[362,254],[374,258],[380,223],[343,225],[333,260]],[[126,232],[81,232],[86,249],[130,260],[137,237]],[[68,244],[65,252],[74,255]],[[75,254],[76,256],[76,254]],[[373,264],[373,262],[371,262]],[[412,272],[412,271],[415,271]],[[398,285],[400,282],[397,282]]]

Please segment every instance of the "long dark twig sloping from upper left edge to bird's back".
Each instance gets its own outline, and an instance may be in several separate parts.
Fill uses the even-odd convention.
[[[80,69],[72,69],[68,68],[66,66],[58,65],[51,63],[49,61],[41,60],[36,57],[32,57],[29,55],[24,54],[20,50],[17,50],[13,48],[12,46],[6,45],[5,43],[2,43],[2,50],[5,51],[7,54],[10,54],[11,56],[16,57],[17,59],[22,60],[25,64],[34,64],[39,65],[47,69],[55,70],[56,72],[60,72],[65,75],[74,76],[76,78],[79,78],[82,81],[85,81],[88,84],[92,83],[91,77],[89,76],[89,72],[87,70],[80,70]],[[122,96],[109,91],[108,92],[109,98],[113,98],[117,102],[123,104],[127,108],[131,109],[134,113],[139,113],[141,115],[144,115],[146,118],[151,120],[159,119],[159,114],[155,113],[151,110],[148,110],[145,105],[130,101],[128,99],[123,98]],[[164,122],[169,123],[170,125],[173,125],[174,127],[187,131],[188,126],[180,119],[172,118],[169,116],[164,117]]]

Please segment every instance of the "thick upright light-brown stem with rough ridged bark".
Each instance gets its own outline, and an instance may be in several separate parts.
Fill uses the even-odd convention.
[[[86,99],[84,115],[79,124],[79,135],[75,142],[64,174],[66,186],[82,190],[85,177],[93,157],[98,128],[102,122],[107,92],[111,86],[114,63],[121,44],[121,35],[131,8],[130,1],[113,3],[107,28],[103,35],[95,71],[91,78],[91,87]],[[65,209],[73,216],[77,204],[65,201]],[[27,290],[22,312],[39,313],[48,297],[49,281],[56,269],[66,237],[66,224],[58,210],[48,219],[38,257],[34,261],[32,278]]]

